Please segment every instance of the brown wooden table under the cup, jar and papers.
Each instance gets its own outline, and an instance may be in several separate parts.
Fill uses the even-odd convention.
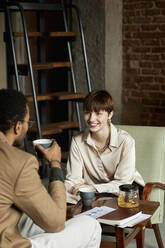
[[[138,211],[142,211],[142,213],[144,214],[150,214],[152,216],[155,213],[156,209],[159,207],[159,205],[159,202],[140,200],[140,205],[136,209]],[[92,207],[83,207],[82,202],[79,201],[76,205],[68,207],[67,218],[71,218],[76,214],[89,210],[90,208],[99,206],[118,208],[117,198],[97,197],[93,201]],[[150,219],[142,221],[138,223],[135,227],[130,228],[131,232],[128,235],[125,234],[125,228],[114,227],[116,242],[102,242],[100,247],[125,248],[132,239],[136,238],[137,248],[144,248],[145,226],[147,225],[149,220]]]

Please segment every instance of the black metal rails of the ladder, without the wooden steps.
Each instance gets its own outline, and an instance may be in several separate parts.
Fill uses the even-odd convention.
[[[82,43],[84,63],[85,63],[87,86],[88,86],[88,91],[90,92],[91,91],[91,82],[90,82],[90,76],[89,76],[89,68],[88,68],[88,60],[87,60],[87,54],[86,54],[84,32],[83,32],[83,26],[82,26],[80,12],[79,12],[77,6],[75,6],[75,5],[66,5],[65,6],[63,0],[61,0],[61,4],[43,4],[43,3],[10,2],[10,1],[5,4],[6,23],[7,23],[7,27],[9,30],[10,45],[11,45],[11,49],[12,49],[14,72],[15,72],[15,78],[16,78],[16,86],[17,86],[18,90],[20,90],[20,82],[19,82],[18,67],[17,67],[17,61],[16,61],[16,51],[14,48],[14,38],[13,38],[12,23],[11,23],[11,12],[12,11],[19,11],[21,13],[23,32],[24,32],[24,40],[25,40],[25,46],[26,46],[26,52],[27,52],[27,58],[28,58],[29,74],[30,74],[31,85],[32,85],[32,93],[33,93],[33,99],[34,99],[34,107],[35,107],[35,113],[36,113],[36,121],[37,121],[39,138],[42,137],[41,124],[40,124],[40,116],[39,116],[38,104],[37,104],[37,98],[36,98],[36,90],[35,90],[34,75],[33,75],[33,68],[32,68],[32,59],[31,59],[29,39],[28,39],[28,31],[27,31],[27,25],[26,25],[26,19],[25,19],[25,13],[24,12],[26,10],[33,10],[33,11],[61,10],[63,12],[65,31],[67,32],[68,26],[67,26],[67,19],[66,19],[66,8],[72,8],[76,11],[76,15],[78,18],[78,23],[79,23],[79,30],[80,30],[80,37],[81,37],[81,43]],[[69,60],[71,63],[71,76],[72,76],[73,90],[74,90],[74,93],[77,93],[70,41],[67,41],[67,46],[68,46]],[[82,123],[81,123],[81,119],[80,119],[80,108],[79,108],[78,102],[76,102],[76,113],[77,113],[77,119],[78,119],[78,123],[79,123],[79,130],[81,131],[82,130]]]

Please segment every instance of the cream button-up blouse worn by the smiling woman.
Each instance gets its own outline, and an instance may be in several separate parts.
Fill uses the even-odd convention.
[[[135,141],[124,130],[110,125],[109,147],[99,153],[88,129],[72,138],[65,186],[67,201],[76,203],[79,197],[69,192],[75,184],[93,185],[96,190],[118,195],[121,184],[133,181],[144,186],[135,168]]]

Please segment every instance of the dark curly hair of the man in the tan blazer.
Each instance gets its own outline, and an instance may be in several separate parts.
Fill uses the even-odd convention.
[[[0,90],[0,131],[6,133],[26,115],[25,96],[13,89]]]

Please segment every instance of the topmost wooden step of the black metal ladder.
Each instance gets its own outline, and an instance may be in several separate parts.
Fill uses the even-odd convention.
[[[23,32],[13,32],[14,37],[23,37],[24,33]],[[33,38],[33,37],[68,37],[68,38],[73,38],[76,36],[75,32],[28,32],[28,37]]]

